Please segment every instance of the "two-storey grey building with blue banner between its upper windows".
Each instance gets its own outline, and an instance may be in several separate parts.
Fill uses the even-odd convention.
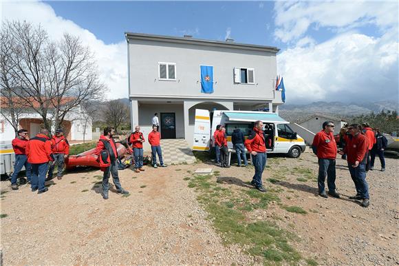
[[[132,130],[144,136],[158,113],[162,139],[193,143],[195,109],[278,112],[278,48],[126,32]],[[202,93],[201,66],[213,67],[213,93]]]

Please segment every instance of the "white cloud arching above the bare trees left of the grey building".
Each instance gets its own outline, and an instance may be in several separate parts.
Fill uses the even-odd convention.
[[[51,39],[60,39],[64,32],[80,37],[91,52],[94,52],[100,71],[100,78],[108,86],[109,99],[125,98],[127,90],[127,43],[105,44],[96,36],[76,25],[73,21],[56,15],[51,6],[43,2],[3,2],[2,19],[28,21],[47,30]],[[120,32],[122,35],[123,33]]]

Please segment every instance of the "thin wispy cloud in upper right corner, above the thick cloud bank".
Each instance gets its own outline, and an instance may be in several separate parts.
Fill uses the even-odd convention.
[[[286,43],[299,39],[310,25],[340,32],[366,24],[397,29],[398,8],[396,1],[277,1],[274,35]]]

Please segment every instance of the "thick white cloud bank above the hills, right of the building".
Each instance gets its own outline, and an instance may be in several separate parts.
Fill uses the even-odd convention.
[[[355,32],[320,44],[297,45],[277,56],[288,103],[398,101],[398,41]]]

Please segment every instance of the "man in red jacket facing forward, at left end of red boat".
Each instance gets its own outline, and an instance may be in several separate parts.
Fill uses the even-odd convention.
[[[56,130],[56,134],[51,139],[52,142],[52,152],[54,157],[54,162],[50,165],[50,169],[47,173],[47,181],[52,180],[54,167],[57,165],[57,179],[63,178],[63,166],[64,160],[69,154],[69,143],[64,136],[64,132],[61,129]]]

